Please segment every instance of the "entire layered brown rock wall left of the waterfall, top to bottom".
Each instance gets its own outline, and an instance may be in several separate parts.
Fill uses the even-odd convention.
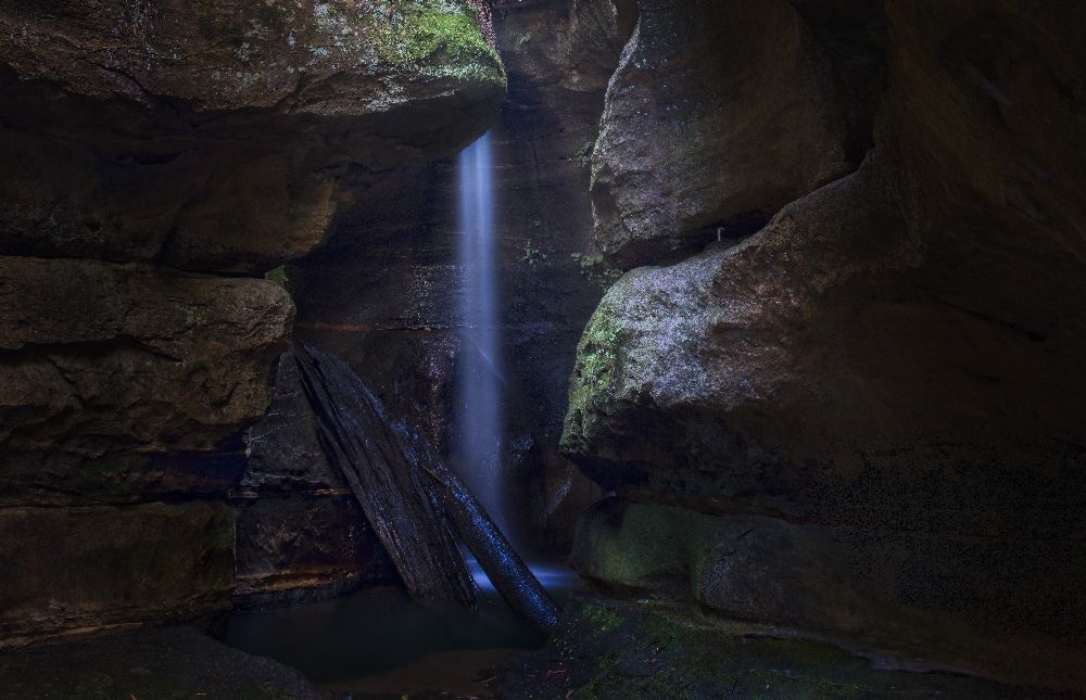
[[[349,171],[492,119],[479,22],[466,0],[0,9],[0,644],[227,604],[226,499],[294,316],[261,278],[325,241]],[[241,540],[280,546],[255,510]]]

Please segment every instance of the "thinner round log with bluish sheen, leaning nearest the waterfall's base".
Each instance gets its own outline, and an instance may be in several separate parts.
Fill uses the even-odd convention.
[[[557,606],[479,501],[428,445],[417,443],[416,453],[421,469],[438,484],[441,505],[456,534],[475,555],[497,593],[526,620],[554,626],[558,622]]]

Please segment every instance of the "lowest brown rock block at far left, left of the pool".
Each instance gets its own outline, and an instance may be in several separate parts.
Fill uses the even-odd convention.
[[[229,608],[233,520],[210,501],[4,508],[0,565],[0,647],[191,619]]]

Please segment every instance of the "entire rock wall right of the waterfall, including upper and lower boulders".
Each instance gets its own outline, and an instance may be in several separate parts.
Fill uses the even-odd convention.
[[[1079,16],[695,3],[715,36],[787,47],[766,54],[699,39],[691,3],[640,4],[593,156],[596,237],[667,266],[628,272],[581,339],[563,445],[619,499],[586,519],[579,568],[1086,687]],[[729,240],[736,191],[771,218]],[[719,242],[695,236],[718,219]]]

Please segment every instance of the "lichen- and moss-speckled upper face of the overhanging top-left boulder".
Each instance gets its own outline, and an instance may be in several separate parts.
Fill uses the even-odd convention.
[[[169,97],[191,101],[198,112],[290,102],[292,111],[357,114],[414,97],[381,98],[395,87],[382,74],[407,65],[428,79],[459,73],[504,82],[467,0],[267,0],[229,8],[97,1],[55,14],[5,9],[0,26],[15,37],[0,48],[0,62],[24,79],[59,81],[97,98]],[[68,41],[58,44],[52,37],[62,29]],[[462,73],[469,63],[480,69]],[[329,81],[334,90],[323,89]],[[345,93],[353,93],[353,107]]]

